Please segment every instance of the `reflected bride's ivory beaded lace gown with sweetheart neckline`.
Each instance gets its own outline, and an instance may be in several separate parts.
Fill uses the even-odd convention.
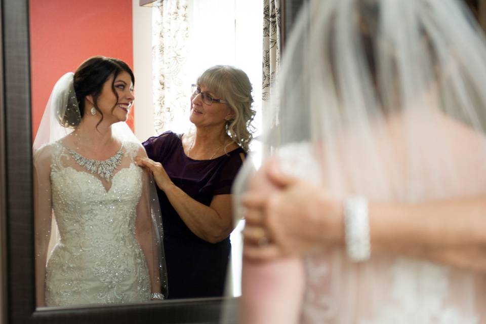
[[[124,144],[125,145],[125,144]],[[150,300],[145,256],[135,237],[142,194],[142,169],[135,147],[105,188],[101,180],[73,164],[60,144],[51,144],[52,206],[60,240],[46,268],[47,306],[127,303]]]

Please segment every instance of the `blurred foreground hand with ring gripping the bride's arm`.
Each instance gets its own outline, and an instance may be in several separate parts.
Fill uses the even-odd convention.
[[[259,173],[242,199],[247,208],[245,257],[270,260],[343,244],[341,201],[330,199],[323,188],[282,173],[275,162]]]

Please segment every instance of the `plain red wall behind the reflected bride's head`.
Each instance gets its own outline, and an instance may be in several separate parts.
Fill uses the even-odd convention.
[[[94,55],[133,68],[132,0],[30,0],[32,134],[64,73]],[[128,124],[133,130],[133,109]]]

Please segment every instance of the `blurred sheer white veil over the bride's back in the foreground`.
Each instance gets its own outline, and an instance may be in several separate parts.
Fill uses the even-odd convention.
[[[456,0],[310,0],[282,55],[263,161],[248,159],[236,203],[270,156],[341,198],[484,194],[485,58],[484,35]],[[479,273],[373,252],[352,263],[341,249],[302,263],[302,322],[486,321]]]

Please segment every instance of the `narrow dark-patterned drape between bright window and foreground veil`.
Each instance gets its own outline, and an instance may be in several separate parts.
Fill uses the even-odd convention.
[[[280,69],[280,4],[281,0],[263,0],[262,111],[264,118],[270,100],[274,96],[274,80]]]

